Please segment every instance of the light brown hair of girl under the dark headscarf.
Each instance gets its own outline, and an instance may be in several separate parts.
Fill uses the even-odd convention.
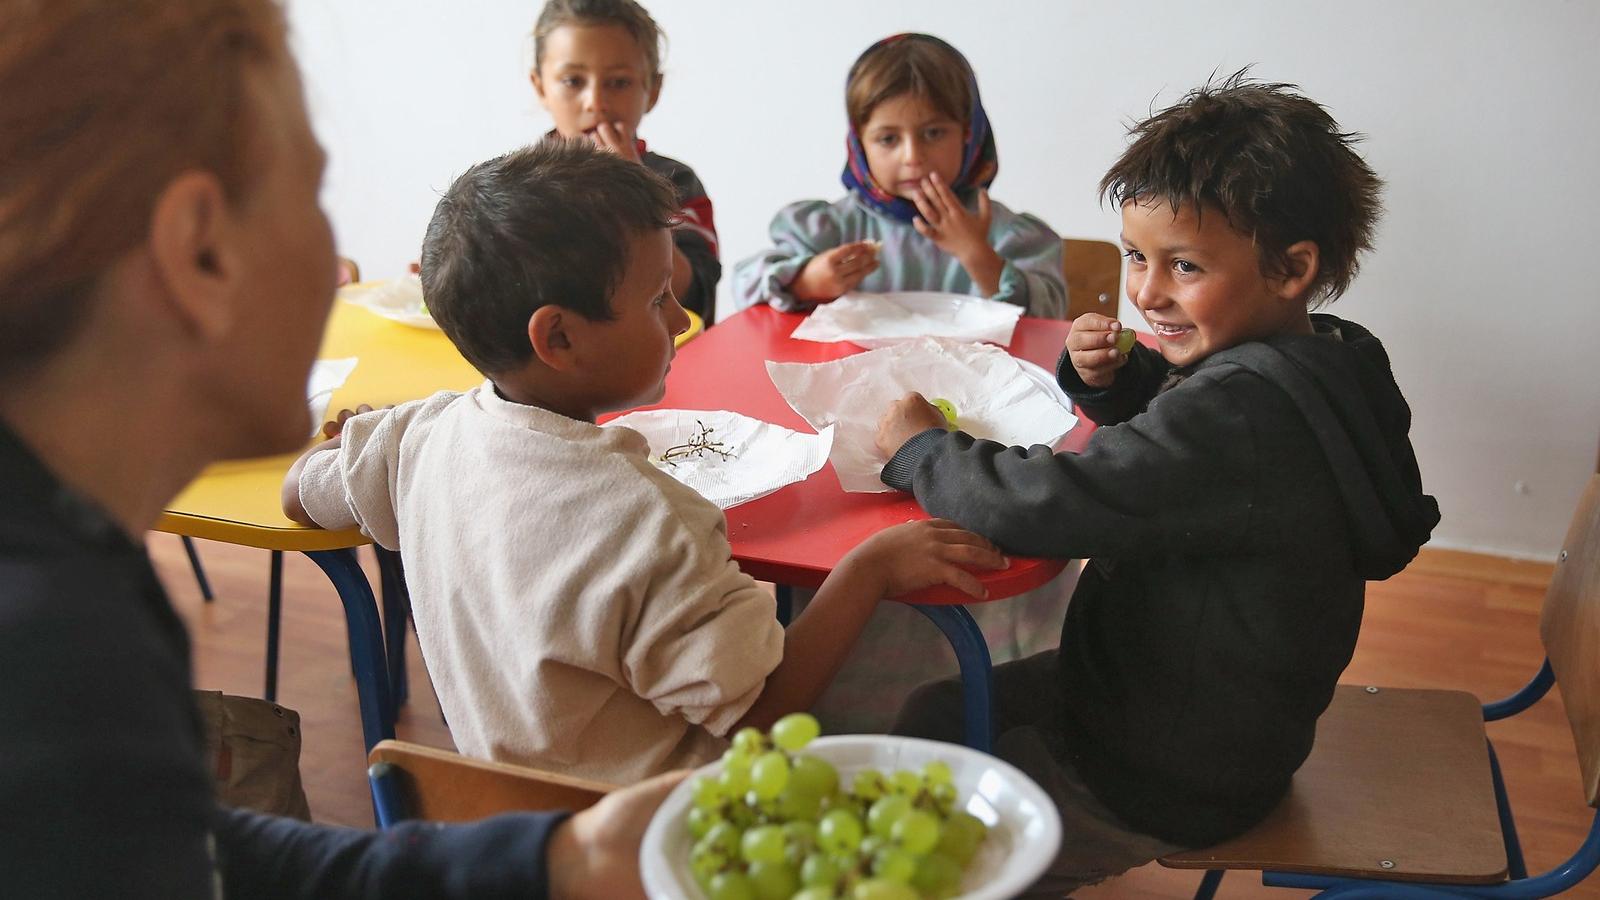
[[[856,131],[886,99],[910,94],[966,125],[973,106],[971,70],[950,45],[920,34],[885,40],[856,59],[845,82],[845,112]]]

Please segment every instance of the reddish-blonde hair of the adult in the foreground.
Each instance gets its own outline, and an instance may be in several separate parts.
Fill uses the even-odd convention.
[[[0,5],[0,376],[72,338],[174,176],[248,192],[250,72],[288,59],[274,0]]]

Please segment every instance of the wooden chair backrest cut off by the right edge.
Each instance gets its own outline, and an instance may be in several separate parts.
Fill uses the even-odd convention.
[[[1539,637],[1562,687],[1589,806],[1600,806],[1600,474],[1589,477],[1557,556]]]

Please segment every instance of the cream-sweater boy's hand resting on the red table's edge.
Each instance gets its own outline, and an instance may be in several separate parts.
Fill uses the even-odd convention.
[[[882,578],[885,597],[950,585],[981,601],[989,596],[973,569],[1011,565],[995,544],[946,519],[883,528],[850,551],[840,565],[861,565]]]

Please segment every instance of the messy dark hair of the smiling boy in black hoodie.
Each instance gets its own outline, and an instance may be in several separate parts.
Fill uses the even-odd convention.
[[[1189,91],[1133,125],[1133,144],[1101,179],[1114,205],[1165,202],[1174,213],[1221,211],[1256,243],[1261,271],[1288,272],[1286,250],[1317,243],[1309,306],[1331,303],[1373,248],[1382,179],[1355,152],[1363,136],[1296,85],[1261,83],[1242,69]]]

